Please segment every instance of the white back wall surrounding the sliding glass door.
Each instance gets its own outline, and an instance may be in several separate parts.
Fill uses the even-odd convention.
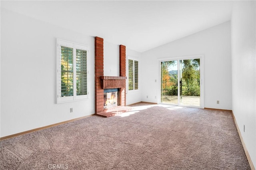
[[[205,63],[204,107],[231,110],[230,22],[142,53],[142,101],[157,103],[155,96],[160,95],[158,92],[159,58],[198,54],[204,55]],[[217,100],[220,104],[216,104]]]

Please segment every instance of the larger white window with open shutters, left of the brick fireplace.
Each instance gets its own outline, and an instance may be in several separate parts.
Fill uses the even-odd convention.
[[[57,39],[57,103],[88,98],[88,46]]]

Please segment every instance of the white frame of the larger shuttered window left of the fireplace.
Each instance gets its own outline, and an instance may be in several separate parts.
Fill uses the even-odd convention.
[[[61,97],[61,47],[73,48],[73,96]],[[76,50],[84,50],[86,52],[86,95],[76,94]],[[66,40],[56,39],[56,103],[65,103],[71,101],[84,100],[89,98],[88,89],[88,54],[89,47],[87,45],[82,45],[79,43],[74,43]]]

